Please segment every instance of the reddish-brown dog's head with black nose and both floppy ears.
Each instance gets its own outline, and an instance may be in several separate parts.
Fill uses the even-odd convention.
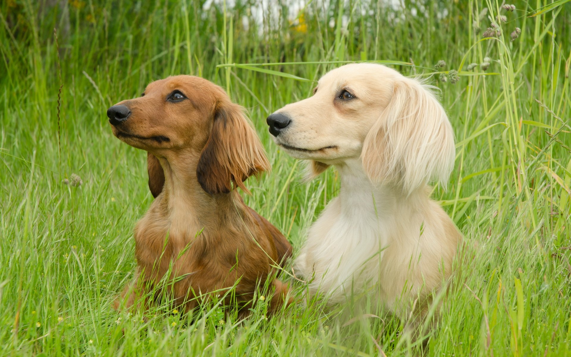
[[[242,107],[222,88],[190,75],[155,81],[139,98],[107,110],[113,134],[148,151],[149,188],[158,196],[164,173],[156,157],[196,157],[196,178],[210,194],[230,192],[270,165]]]

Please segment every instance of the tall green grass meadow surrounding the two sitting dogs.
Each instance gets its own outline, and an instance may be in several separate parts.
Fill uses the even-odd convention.
[[[146,319],[111,308],[152,196],[146,153],[113,137],[107,108],[168,75],[223,86],[272,165],[244,200],[299,248],[339,177],[301,182],[303,163],[275,146],[266,117],[353,61],[429,77],[455,130],[455,169],[433,198],[472,258],[457,263],[424,354],[571,355],[571,2],[502,5],[3,1],[0,355],[419,354],[398,319],[347,316],[323,298],[269,320],[260,301],[243,322],[216,303],[191,316],[159,306]]]

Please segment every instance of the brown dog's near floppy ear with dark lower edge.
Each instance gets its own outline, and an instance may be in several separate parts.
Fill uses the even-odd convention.
[[[196,167],[200,186],[210,194],[230,192],[236,186],[250,193],[244,180],[269,169],[262,143],[242,107],[228,99],[218,103],[210,137]]]

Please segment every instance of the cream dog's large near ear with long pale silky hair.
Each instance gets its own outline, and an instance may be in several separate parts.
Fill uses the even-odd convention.
[[[373,182],[401,184],[406,194],[429,180],[447,183],[455,159],[454,133],[434,87],[403,78],[363,143],[361,159]]]

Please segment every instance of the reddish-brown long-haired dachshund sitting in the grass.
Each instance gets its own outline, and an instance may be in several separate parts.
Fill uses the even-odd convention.
[[[236,285],[225,303],[234,295],[239,313],[247,314],[256,288],[291,255],[291,245],[235,190],[248,192],[243,181],[269,169],[242,107],[214,83],[179,75],[152,82],[107,116],[115,137],[148,152],[148,186],[156,198],[135,226],[135,282],[115,308],[123,300],[146,308],[168,296],[173,307],[190,311]],[[270,313],[287,294],[279,280],[273,285]]]

